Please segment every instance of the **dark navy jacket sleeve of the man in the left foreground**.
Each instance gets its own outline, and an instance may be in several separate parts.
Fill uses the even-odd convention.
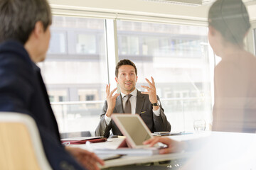
[[[29,110],[31,95],[33,94],[32,67],[18,60],[18,57],[0,56],[0,111],[17,112],[35,116]],[[36,125],[41,136],[43,149],[48,162],[53,169],[82,169],[82,166],[65,151],[65,148],[56,139],[53,132],[49,132],[44,125],[36,120]]]

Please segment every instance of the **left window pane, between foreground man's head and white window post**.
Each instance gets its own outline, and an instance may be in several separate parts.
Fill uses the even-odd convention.
[[[54,16],[39,64],[60,132],[94,131],[105,100],[104,20]]]

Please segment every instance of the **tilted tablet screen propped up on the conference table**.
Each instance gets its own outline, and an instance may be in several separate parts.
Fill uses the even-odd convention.
[[[117,117],[124,130],[134,141],[135,145],[143,145],[142,142],[151,138],[150,133],[137,116],[118,116]],[[143,121],[143,120],[142,120]]]

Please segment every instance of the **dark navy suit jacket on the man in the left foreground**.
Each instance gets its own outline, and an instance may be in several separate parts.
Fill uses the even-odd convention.
[[[58,125],[40,69],[16,41],[0,45],[0,111],[23,113],[36,120],[53,169],[83,169],[60,144]]]

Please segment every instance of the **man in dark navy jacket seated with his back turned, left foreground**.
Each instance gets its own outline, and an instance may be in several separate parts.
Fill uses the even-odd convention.
[[[27,114],[36,121],[53,169],[98,169],[96,163],[103,162],[95,154],[60,143],[46,86],[35,64],[45,60],[51,21],[46,0],[0,1],[0,111]]]

